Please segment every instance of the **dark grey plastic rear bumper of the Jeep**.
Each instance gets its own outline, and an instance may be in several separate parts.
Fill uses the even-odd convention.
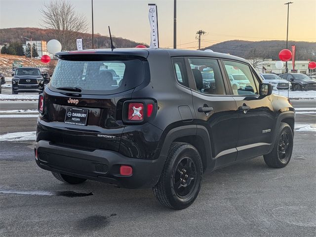
[[[40,168],[70,176],[118,184],[130,189],[151,188],[160,177],[165,158],[155,160],[128,158],[109,150],[84,151],[56,146],[49,141],[36,143]],[[130,165],[133,174],[119,174],[120,165]]]

